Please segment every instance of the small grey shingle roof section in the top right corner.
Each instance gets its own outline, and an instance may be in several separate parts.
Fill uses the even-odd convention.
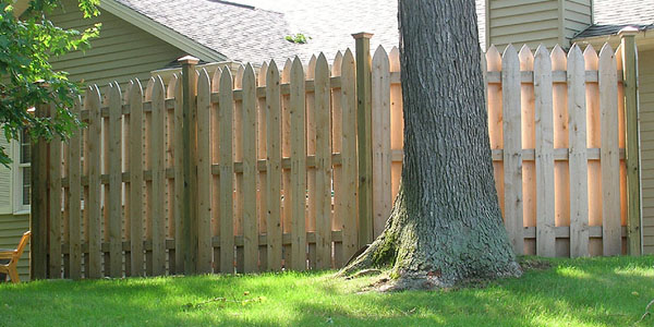
[[[654,28],[654,0],[594,0],[593,21],[576,38],[613,35],[627,26]]]

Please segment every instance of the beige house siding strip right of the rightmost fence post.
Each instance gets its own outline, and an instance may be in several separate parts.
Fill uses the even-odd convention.
[[[654,254],[654,49],[639,51],[643,250]]]

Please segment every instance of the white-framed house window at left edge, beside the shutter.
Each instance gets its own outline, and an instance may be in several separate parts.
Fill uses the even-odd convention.
[[[29,134],[27,131],[24,130],[21,133],[20,138],[19,145],[16,146],[17,149],[14,153],[14,169],[16,177],[14,180],[14,211],[29,210],[29,201],[32,198],[32,177],[29,168],[29,164],[32,162],[32,145],[29,143]]]

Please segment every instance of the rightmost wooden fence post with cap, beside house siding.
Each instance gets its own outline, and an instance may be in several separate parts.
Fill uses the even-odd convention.
[[[627,253],[641,254],[641,203],[638,137],[638,60],[635,35],[638,28],[619,32],[622,45],[622,89],[625,92],[625,147],[627,164]]]

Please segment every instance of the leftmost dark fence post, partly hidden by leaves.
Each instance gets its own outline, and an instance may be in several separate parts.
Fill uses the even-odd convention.
[[[38,105],[34,114],[44,118],[49,105]],[[48,278],[48,143],[44,137],[32,140],[32,210],[29,230],[32,231],[29,267],[31,279]]]

